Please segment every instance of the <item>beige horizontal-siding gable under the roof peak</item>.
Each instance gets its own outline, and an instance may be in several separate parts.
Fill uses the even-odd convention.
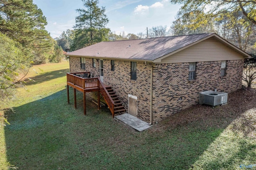
[[[244,59],[244,57],[214,38],[209,38],[162,59],[161,63],[185,63],[236,59]]]

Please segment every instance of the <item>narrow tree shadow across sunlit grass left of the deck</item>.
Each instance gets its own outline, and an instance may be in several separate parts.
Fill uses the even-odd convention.
[[[43,83],[45,81],[57,79],[59,77],[64,77],[64,76],[66,76],[66,73],[68,73],[68,72],[69,72],[69,69],[61,69],[61,70],[56,70],[56,71],[49,71],[46,73],[40,73],[34,77],[29,77],[30,79],[32,79],[34,81],[29,80],[28,78],[25,79],[25,81],[27,82],[26,85]]]

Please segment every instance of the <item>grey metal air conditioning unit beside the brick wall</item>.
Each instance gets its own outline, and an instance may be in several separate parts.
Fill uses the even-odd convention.
[[[217,91],[203,91],[199,93],[199,104],[211,106],[223,105],[228,103],[228,93]]]

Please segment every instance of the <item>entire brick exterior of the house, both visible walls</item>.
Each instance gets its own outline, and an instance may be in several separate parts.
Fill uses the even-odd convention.
[[[137,80],[131,80],[130,61],[104,59],[104,84],[110,85],[128,111],[128,94],[138,97],[137,117],[150,122],[150,71],[151,66],[137,63]],[[199,102],[199,93],[214,90],[227,93],[242,85],[243,60],[226,63],[226,75],[220,76],[221,61],[197,62],[196,80],[188,81],[189,63],[153,65],[153,122],[160,121]],[[80,69],[80,58],[70,57],[70,72],[90,71],[99,76],[99,59],[92,67],[92,58],[86,58],[86,69]]]

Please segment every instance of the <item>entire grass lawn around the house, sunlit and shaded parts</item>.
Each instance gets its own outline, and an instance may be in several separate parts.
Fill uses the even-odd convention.
[[[0,127],[0,169],[240,169],[256,164],[255,89],[229,94],[228,105],[196,105],[136,132],[110,111],[66,97],[69,64],[34,66],[26,89]],[[252,94],[253,93],[253,94]],[[246,96],[242,98],[242,96]],[[88,99],[88,97],[87,97]],[[90,101],[88,101],[90,102]],[[256,169],[256,166],[253,167]]]

